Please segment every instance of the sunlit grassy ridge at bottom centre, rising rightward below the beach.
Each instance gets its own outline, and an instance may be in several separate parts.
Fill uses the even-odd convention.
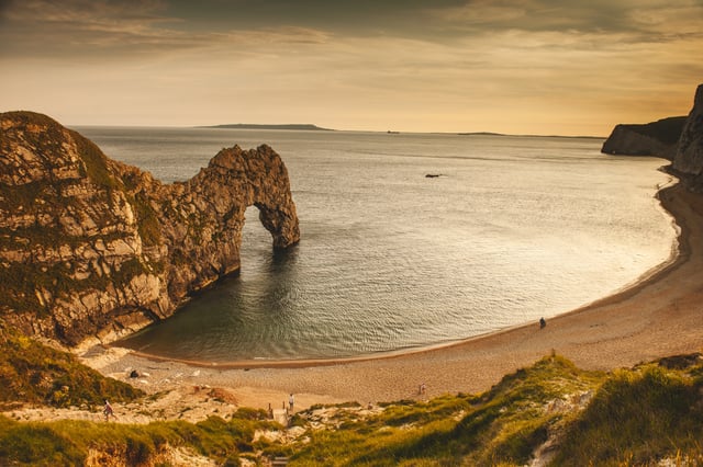
[[[559,356],[521,369],[482,396],[444,396],[388,405],[379,415],[314,431],[294,465],[522,465],[563,423],[545,405],[595,390],[601,373]]]

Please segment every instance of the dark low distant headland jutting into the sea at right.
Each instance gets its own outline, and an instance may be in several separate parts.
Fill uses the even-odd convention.
[[[616,125],[601,151],[622,156],[657,156],[672,160],[685,121],[685,116],[678,116],[643,125]]]

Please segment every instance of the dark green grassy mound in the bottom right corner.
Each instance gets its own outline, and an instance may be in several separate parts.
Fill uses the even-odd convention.
[[[645,465],[683,453],[703,465],[702,368],[616,372],[569,428],[558,464]]]

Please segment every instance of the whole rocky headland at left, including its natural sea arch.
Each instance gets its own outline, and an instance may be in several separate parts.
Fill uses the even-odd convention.
[[[239,269],[250,205],[274,248],[299,241],[288,172],[267,146],[223,149],[161,184],[45,115],[0,114],[0,319],[75,345],[168,317]]]

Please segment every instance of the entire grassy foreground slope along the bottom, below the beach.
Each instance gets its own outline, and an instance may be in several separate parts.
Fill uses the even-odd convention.
[[[701,465],[703,362],[693,355],[605,374],[547,356],[482,395],[312,407],[290,428],[248,409],[146,425],[11,415],[0,415],[0,464],[81,465],[107,455],[169,465],[176,451],[224,465],[276,456],[300,466]]]

